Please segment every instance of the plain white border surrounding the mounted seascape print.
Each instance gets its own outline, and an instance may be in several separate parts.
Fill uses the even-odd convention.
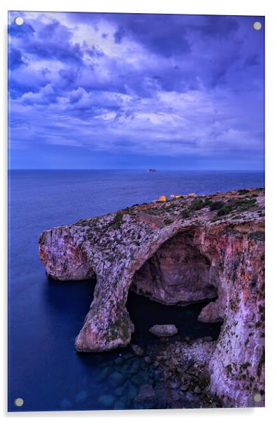
[[[0,399],[1,415],[4,418],[46,418],[51,422],[57,418],[73,418],[77,420],[80,417],[93,418],[93,421],[108,420],[112,422],[121,422],[122,420],[154,419],[161,421],[173,418],[175,421],[183,419],[204,420],[204,422],[231,422],[233,418],[251,423],[260,423],[260,419],[272,418],[275,409],[275,304],[276,300],[276,280],[273,278],[273,262],[275,262],[275,198],[276,185],[275,175],[275,42],[276,42],[276,2],[270,0],[245,1],[245,0],[193,0],[184,2],[181,0],[170,0],[162,2],[160,0],[139,0],[130,2],[129,0],[101,0],[100,2],[91,2],[78,0],[76,3],[69,3],[64,0],[41,0],[41,1],[1,1],[1,235],[0,244],[0,268],[1,268],[1,288],[2,288],[2,307],[1,307],[1,364],[3,365],[1,374],[5,375],[2,379]],[[7,62],[6,62],[6,27],[8,10],[49,10],[66,12],[141,12],[141,13],[182,13],[182,14],[244,14],[253,16],[266,16],[266,408],[265,409],[196,409],[196,410],[161,410],[161,411],[60,411],[60,412],[40,412],[40,413],[7,413],[7,113],[6,113],[6,87],[7,87]],[[274,206],[274,207],[273,207]],[[72,381],[73,382],[73,381]],[[274,413],[275,414],[275,413]]]

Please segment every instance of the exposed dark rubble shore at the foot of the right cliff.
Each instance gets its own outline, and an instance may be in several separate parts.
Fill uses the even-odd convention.
[[[157,369],[156,391],[159,401],[168,408],[216,408],[221,402],[209,391],[208,365],[216,341],[163,340],[148,351],[146,361],[152,360]],[[152,398],[153,400],[153,398]]]

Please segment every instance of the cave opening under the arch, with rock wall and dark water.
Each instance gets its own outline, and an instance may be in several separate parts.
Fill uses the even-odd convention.
[[[132,341],[153,341],[152,325],[174,324],[173,339],[218,339],[222,323],[198,321],[200,311],[218,297],[218,273],[200,251],[195,230],[166,240],[136,271],[126,308],[135,324]]]

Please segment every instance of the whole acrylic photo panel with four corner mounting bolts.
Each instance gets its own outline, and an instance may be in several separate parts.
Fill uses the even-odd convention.
[[[9,411],[264,407],[264,16],[9,12]]]

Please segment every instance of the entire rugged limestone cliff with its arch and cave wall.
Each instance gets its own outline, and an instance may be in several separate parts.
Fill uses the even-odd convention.
[[[211,391],[233,407],[264,404],[263,190],[185,196],[80,220],[41,233],[39,253],[55,279],[96,275],[78,351],[130,342],[130,288],[163,304],[217,298],[199,317],[224,321],[209,363]]]

